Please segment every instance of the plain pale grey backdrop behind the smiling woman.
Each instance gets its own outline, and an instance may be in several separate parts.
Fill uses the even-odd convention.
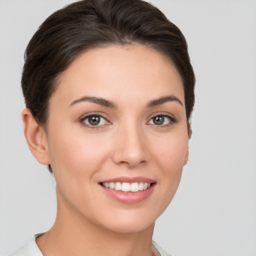
[[[54,178],[23,138],[23,53],[71,0],[0,0],[0,255],[56,213]],[[184,33],[196,74],[190,155],[153,239],[175,256],[256,255],[256,1],[151,0]]]

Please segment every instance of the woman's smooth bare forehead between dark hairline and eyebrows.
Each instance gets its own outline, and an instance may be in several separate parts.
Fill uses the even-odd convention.
[[[111,45],[81,53],[60,75],[52,95],[71,102],[83,95],[132,102],[175,94],[184,102],[182,79],[171,61],[144,45]]]

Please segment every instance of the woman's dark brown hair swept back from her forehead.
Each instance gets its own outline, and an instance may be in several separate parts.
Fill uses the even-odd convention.
[[[58,77],[79,54],[133,43],[157,50],[177,68],[190,137],[195,76],[185,37],[158,8],[143,0],[80,0],[55,11],[39,26],[26,47],[21,77],[25,105],[38,125],[47,127],[49,98],[61,86]]]

